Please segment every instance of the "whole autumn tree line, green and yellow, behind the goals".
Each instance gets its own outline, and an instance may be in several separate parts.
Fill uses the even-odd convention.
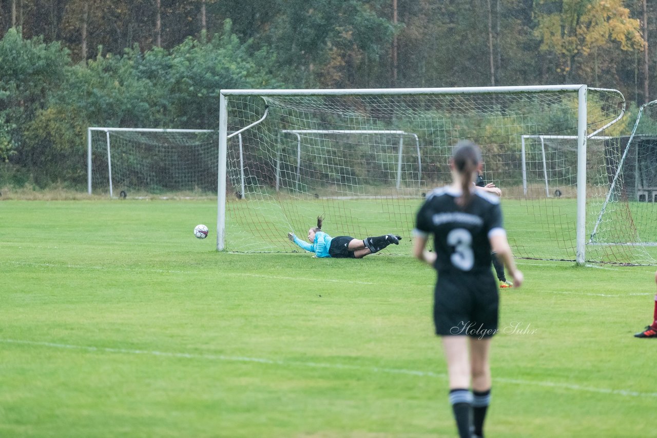
[[[587,83],[657,95],[647,0],[0,0],[0,184],[89,125],[214,127],[225,88]]]

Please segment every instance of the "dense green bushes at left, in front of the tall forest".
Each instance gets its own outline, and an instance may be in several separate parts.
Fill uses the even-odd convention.
[[[214,127],[222,88],[279,87],[273,56],[240,43],[227,21],[208,43],[99,55],[72,64],[68,50],[10,30],[0,40],[0,160],[43,186],[85,178],[90,125]],[[3,174],[0,169],[0,180]],[[2,183],[3,181],[0,181]]]

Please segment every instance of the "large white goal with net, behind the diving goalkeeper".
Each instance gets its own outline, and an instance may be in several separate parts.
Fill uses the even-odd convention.
[[[392,232],[403,240],[386,252],[409,254],[417,209],[450,183],[452,147],[470,139],[503,192],[516,256],[633,263],[631,249],[585,248],[587,200],[600,206],[610,186],[624,108],[618,91],[585,85],[224,90],[217,248],[300,251],[286,234],[304,238],[325,215],[332,236]]]

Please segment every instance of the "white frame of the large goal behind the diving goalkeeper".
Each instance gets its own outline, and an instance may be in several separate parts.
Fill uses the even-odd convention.
[[[587,85],[533,85],[514,87],[463,87],[463,88],[425,88],[425,89],[225,89],[219,94],[219,185],[217,188],[217,251],[225,249],[226,228],[226,184],[227,184],[227,140],[237,133],[250,129],[267,117],[265,106],[263,116],[235,133],[228,135],[228,97],[303,97],[303,96],[357,96],[357,95],[457,95],[494,93],[578,93],[578,162],[577,162],[577,222],[576,222],[576,263],[585,263],[586,238],[586,156],[587,156]],[[600,90],[600,89],[597,89]],[[612,91],[612,90],[610,90]],[[620,120],[625,112],[625,100],[620,115],[598,131]]]

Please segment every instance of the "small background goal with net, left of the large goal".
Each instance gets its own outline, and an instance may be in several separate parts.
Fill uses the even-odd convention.
[[[215,196],[217,131],[87,129],[87,190],[111,197]]]

